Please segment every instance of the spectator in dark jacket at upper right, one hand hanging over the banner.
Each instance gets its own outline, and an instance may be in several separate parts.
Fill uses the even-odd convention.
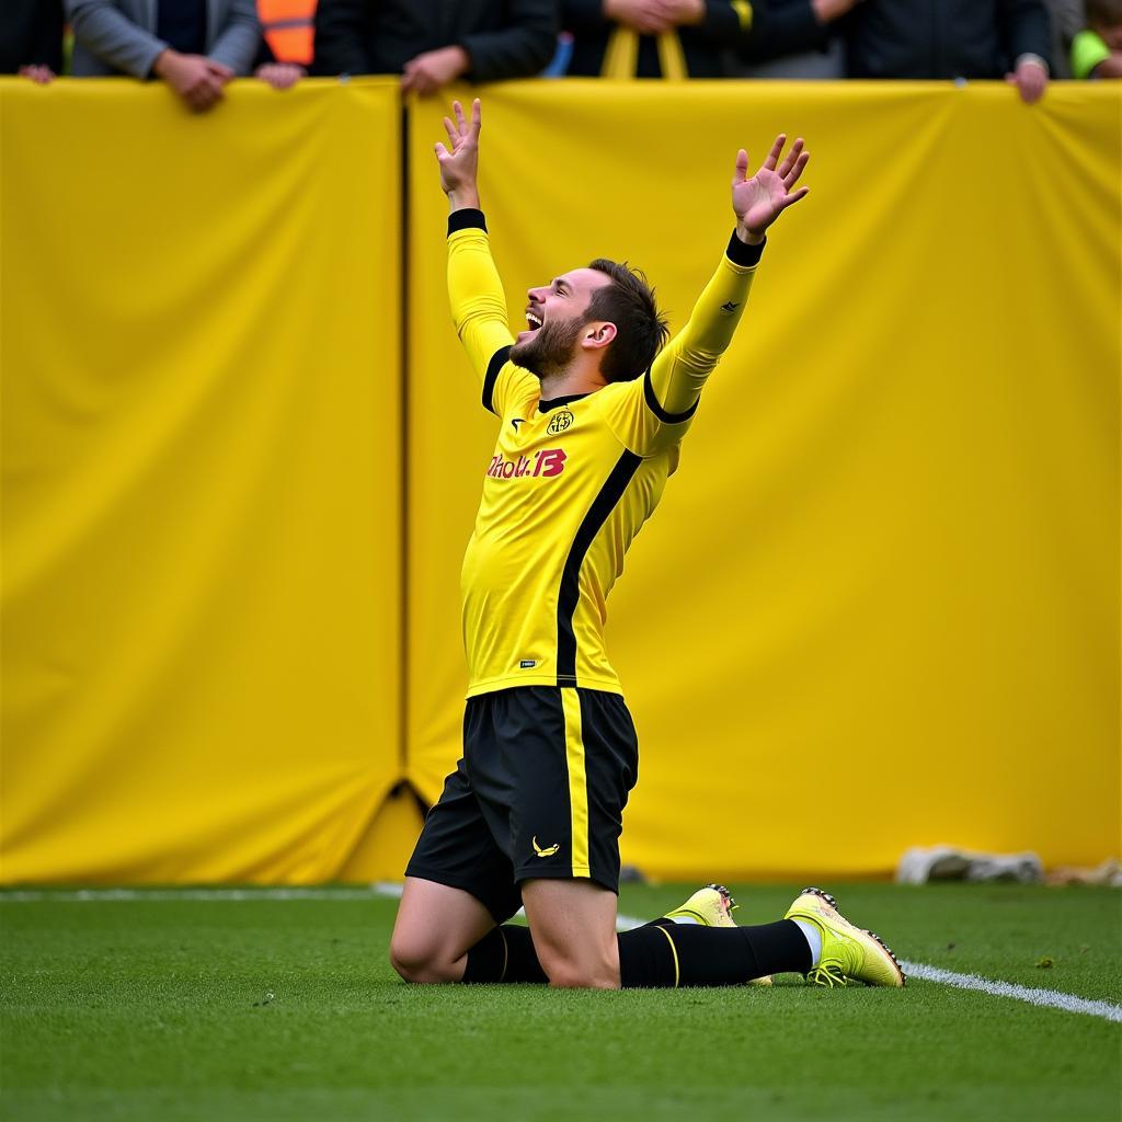
[[[1038,101],[1048,85],[1043,0],[864,0],[845,18],[849,77],[992,79]]]

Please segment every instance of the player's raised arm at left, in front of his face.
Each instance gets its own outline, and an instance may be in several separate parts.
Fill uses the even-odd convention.
[[[448,145],[436,144],[440,185],[448,195],[448,295],[460,342],[486,383],[488,368],[514,342],[506,319],[506,296],[490,255],[487,226],[479,209],[477,168],[482,114],[477,98],[471,119],[452,102],[456,120],[444,118]],[[494,374],[494,371],[491,371]],[[489,402],[485,404],[490,407]]]

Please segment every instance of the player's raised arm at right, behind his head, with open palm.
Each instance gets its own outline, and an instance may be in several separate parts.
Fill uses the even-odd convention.
[[[680,424],[692,416],[706,378],[739,323],[767,228],[809,190],[797,184],[810,153],[800,137],[783,157],[785,145],[785,136],[776,137],[763,166],[751,177],[747,153],[743,148],[737,153],[733,176],[736,231],[689,322],[651,368],[647,405],[664,423]]]

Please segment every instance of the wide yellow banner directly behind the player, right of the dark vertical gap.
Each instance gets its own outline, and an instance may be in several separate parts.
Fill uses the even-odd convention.
[[[463,91],[465,98],[470,91]],[[880,873],[917,844],[1119,850],[1118,89],[523,83],[485,94],[513,320],[595,257],[680,325],[736,149],[807,138],[739,337],[609,604],[664,877]],[[460,752],[458,570],[495,439],[411,121],[410,775]]]

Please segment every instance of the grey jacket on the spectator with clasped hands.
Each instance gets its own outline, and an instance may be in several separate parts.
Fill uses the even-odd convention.
[[[159,0],[64,0],[74,29],[75,77],[148,77],[167,48],[156,37]],[[255,0],[206,0],[206,57],[248,74],[261,30]]]

